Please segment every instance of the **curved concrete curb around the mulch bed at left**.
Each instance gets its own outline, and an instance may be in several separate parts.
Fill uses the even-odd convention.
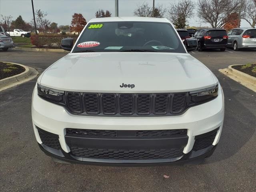
[[[11,62],[8,62],[8,63],[11,63]],[[24,66],[18,63],[11,63],[11,64],[20,65],[25,68],[25,71],[20,74],[0,80],[0,91],[6,90],[13,86],[32,80],[38,75],[38,71],[32,67]]]

